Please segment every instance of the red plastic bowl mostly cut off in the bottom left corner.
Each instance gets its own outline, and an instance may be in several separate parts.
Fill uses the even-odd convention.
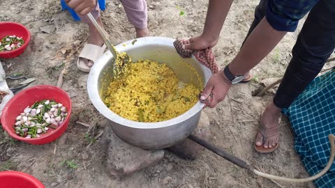
[[[0,172],[0,188],[45,188],[34,176],[17,171]]]

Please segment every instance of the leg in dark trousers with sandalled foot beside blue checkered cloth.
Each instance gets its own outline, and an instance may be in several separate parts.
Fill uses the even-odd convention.
[[[318,75],[335,47],[334,1],[319,1],[309,13],[292,49],[292,59],[273,102],[262,113],[261,122],[268,128],[278,126],[281,109],[289,107],[295,98]],[[255,145],[272,148],[278,136],[264,139],[258,132]]]

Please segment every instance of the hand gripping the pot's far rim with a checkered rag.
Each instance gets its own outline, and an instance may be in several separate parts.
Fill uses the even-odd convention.
[[[218,37],[211,38],[202,33],[199,36],[190,38],[189,41],[189,44],[183,45],[183,49],[201,50],[214,47],[218,43]]]

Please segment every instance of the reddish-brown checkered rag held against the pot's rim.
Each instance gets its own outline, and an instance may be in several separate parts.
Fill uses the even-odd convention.
[[[200,61],[200,63],[204,64],[211,70],[213,74],[218,73],[218,64],[216,63],[215,56],[213,52],[211,52],[211,49],[202,49],[199,51],[193,51],[190,49],[183,49],[183,45],[189,44],[190,41],[188,40],[175,40],[173,42],[174,47],[176,48],[178,54],[182,58],[191,58],[192,54],[195,56],[195,58]]]

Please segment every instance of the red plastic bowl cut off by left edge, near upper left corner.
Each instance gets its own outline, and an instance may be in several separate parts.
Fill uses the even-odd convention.
[[[5,36],[17,36],[22,37],[24,44],[12,51],[0,52],[0,58],[13,58],[19,56],[27,48],[30,42],[30,32],[27,27],[22,24],[17,24],[15,22],[0,22],[0,40]]]

